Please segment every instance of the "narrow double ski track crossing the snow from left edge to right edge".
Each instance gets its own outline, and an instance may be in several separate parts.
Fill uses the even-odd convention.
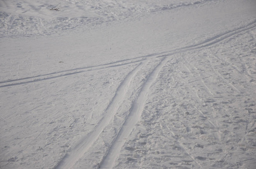
[[[160,52],[160,53],[135,57],[133,59],[120,60],[120,61],[116,61],[114,63],[101,64],[101,65],[96,65],[96,66],[87,66],[87,67],[75,68],[75,69],[68,69],[68,70],[63,70],[63,71],[49,73],[49,74],[36,75],[34,77],[11,79],[11,80],[8,80],[8,81],[0,82],[0,84],[1,83],[3,84],[2,86],[0,86],[0,88],[16,86],[16,85],[26,84],[26,83],[35,83],[35,82],[45,81],[45,80],[48,80],[48,79],[65,77],[65,76],[69,76],[69,75],[72,75],[72,74],[84,73],[84,72],[92,71],[92,70],[110,68],[110,67],[113,67],[113,66],[122,66],[122,65],[126,65],[126,64],[138,63],[138,62],[140,62],[140,61],[142,61],[142,60],[144,60],[148,57],[165,57],[165,56],[169,56],[169,55],[180,54],[182,52],[186,52],[186,51],[190,51],[190,50],[196,50],[196,49],[199,49],[199,48],[204,48],[204,47],[214,45],[215,43],[221,42],[224,39],[232,37],[233,35],[236,35],[238,33],[244,32],[246,30],[249,30],[249,29],[252,29],[252,28],[255,28],[255,27],[256,27],[256,20],[253,21],[252,23],[246,25],[246,26],[242,26],[238,29],[231,30],[227,33],[216,35],[212,38],[206,39],[206,41],[197,43],[195,45],[190,45],[190,46],[186,46],[186,47],[182,47],[182,48],[177,48],[176,50],[165,51],[165,52]],[[142,59],[142,60],[138,60],[138,59]],[[118,63],[120,63],[120,64],[118,64]]]

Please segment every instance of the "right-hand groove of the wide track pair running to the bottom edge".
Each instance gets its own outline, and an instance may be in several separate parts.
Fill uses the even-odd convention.
[[[126,141],[126,138],[131,134],[136,123],[140,119],[140,115],[143,112],[144,106],[147,100],[147,94],[153,82],[155,82],[157,75],[163,68],[165,63],[167,63],[168,57],[164,57],[160,63],[155,67],[155,69],[148,76],[146,82],[144,82],[142,89],[131,106],[130,113],[123,123],[120,131],[118,132],[116,139],[113,140],[112,146],[109,148],[108,153],[103,158],[100,163],[100,168],[112,168],[116,158],[120,154],[121,148]]]

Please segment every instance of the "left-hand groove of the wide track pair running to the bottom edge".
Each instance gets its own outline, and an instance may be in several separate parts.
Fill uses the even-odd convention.
[[[126,95],[127,88],[130,86],[131,80],[134,78],[134,75],[138,70],[143,66],[141,62],[137,65],[127,76],[123,79],[120,86],[117,88],[116,95],[113,97],[113,100],[106,108],[105,115],[100,119],[99,123],[88,135],[84,136],[82,140],[75,145],[71,151],[65,155],[65,157],[58,163],[54,168],[72,168],[74,164],[83,157],[84,153],[93,145],[93,143],[103,132],[104,128],[109,124],[111,119],[117,113],[118,108],[120,107],[124,96]]]

